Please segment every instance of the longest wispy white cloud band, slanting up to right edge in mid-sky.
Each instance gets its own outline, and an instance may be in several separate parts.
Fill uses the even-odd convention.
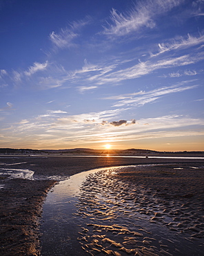
[[[162,60],[138,61],[137,64],[124,68],[123,64],[128,60],[112,60],[111,63],[90,64],[85,60],[81,69],[75,71],[65,71],[64,68],[55,68],[50,66],[50,76],[40,77],[39,85],[42,89],[50,89],[63,86],[65,82],[72,84],[81,84],[76,86],[79,92],[85,93],[98,88],[102,84],[118,84],[125,80],[133,80],[137,77],[148,75],[153,71],[165,68],[174,68],[195,64],[204,59],[203,53],[194,55],[182,55],[179,57],[166,57]],[[127,66],[127,64],[125,66]],[[132,64],[132,62],[130,62]],[[60,69],[60,70],[59,70]],[[181,73],[170,73],[170,77],[179,77],[181,75],[196,75],[196,71],[186,70]]]

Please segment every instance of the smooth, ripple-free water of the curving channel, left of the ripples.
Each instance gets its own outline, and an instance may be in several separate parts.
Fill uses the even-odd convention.
[[[89,174],[97,171],[74,174],[68,180],[60,181],[48,193],[43,205],[41,255],[87,255],[77,240],[84,220],[74,214],[82,183]]]

